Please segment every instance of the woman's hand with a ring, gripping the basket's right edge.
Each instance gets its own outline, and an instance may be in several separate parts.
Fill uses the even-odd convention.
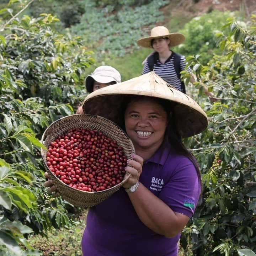
[[[130,173],[129,179],[123,184],[125,189],[135,185],[142,173],[143,158],[135,154],[132,155],[132,158],[133,160],[127,160],[127,164],[130,166],[125,167],[125,170]]]

